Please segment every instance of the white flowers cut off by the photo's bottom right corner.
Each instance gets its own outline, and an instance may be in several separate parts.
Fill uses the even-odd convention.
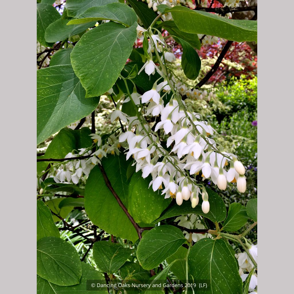
[[[257,244],[256,245],[248,245],[248,251],[250,255],[253,257],[255,262],[257,263]],[[238,259],[239,264],[239,274],[241,276],[242,281],[244,282],[251,272],[253,270],[254,265],[252,260],[249,258],[248,254],[246,252],[235,254],[235,257]],[[248,272],[248,273],[244,273]],[[257,293],[256,291],[257,286],[257,273],[254,270],[254,273],[251,275],[250,282],[249,282],[249,292],[250,293]],[[256,290],[256,291],[255,291]],[[251,292],[252,291],[252,292]]]

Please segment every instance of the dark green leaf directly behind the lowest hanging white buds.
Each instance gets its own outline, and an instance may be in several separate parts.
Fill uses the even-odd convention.
[[[164,220],[166,218],[181,216],[183,214],[189,214],[189,213],[205,216],[206,218],[209,218],[213,222],[216,222],[216,221],[220,222],[224,220],[227,215],[227,211],[225,209],[225,203],[223,202],[223,199],[209,188],[206,188],[206,191],[208,193],[208,201],[210,204],[210,210],[208,213],[203,213],[202,211],[201,197],[199,198],[199,203],[195,208],[192,208],[190,200],[183,201],[183,204],[181,206],[178,206],[175,203],[175,201],[173,201],[171,205],[168,208],[166,208],[165,211],[163,211],[160,218],[155,220],[153,223],[158,223],[159,221]]]

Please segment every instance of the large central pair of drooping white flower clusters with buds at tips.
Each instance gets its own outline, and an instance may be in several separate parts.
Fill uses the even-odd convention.
[[[141,29],[140,29],[141,30]],[[138,116],[126,117],[119,109],[116,116],[126,118],[127,131],[119,137],[119,142],[127,142],[126,158],[134,158],[136,172],[142,171],[142,177],[152,176],[149,186],[153,191],[162,190],[165,198],[176,198],[178,205],[183,200],[191,200],[192,207],[202,196],[202,210],[209,211],[208,194],[203,185],[198,183],[197,175],[202,180],[210,179],[218,188],[225,190],[227,182],[237,182],[241,193],[245,192],[245,168],[237,158],[218,148],[218,144],[209,138],[215,133],[209,121],[204,120],[199,113],[195,113],[182,101],[172,76],[167,74],[165,63],[168,62],[161,51],[167,51],[167,46],[161,35],[148,32],[149,59],[139,71],[151,75],[157,71],[163,81],[156,81],[151,90],[134,99],[131,95],[127,99],[139,104],[147,105],[146,115],[157,117],[154,130],[144,120],[142,113]],[[160,65],[153,62],[152,51],[155,51]],[[168,52],[167,52],[168,53]],[[167,94],[172,92],[169,101],[165,101]],[[136,93],[137,94],[137,93]],[[207,93],[206,93],[207,95]],[[142,106],[141,106],[142,111]],[[124,121],[126,121],[124,120]],[[166,146],[163,147],[166,140]],[[225,166],[230,162],[230,168]],[[202,191],[201,191],[201,189]]]

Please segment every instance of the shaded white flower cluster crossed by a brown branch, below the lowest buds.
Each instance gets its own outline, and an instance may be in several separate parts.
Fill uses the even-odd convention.
[[[177,217],[174,222],[178,222],[178,225],[187,228],[187,229],[205,229],[203,223],[202,223],[202,216],[199,216],[197,214],[186,214],[184,216]],[[187,231],[183,231],[185,234],[185,238],[189,239],[190,234]],[[204,234],[198,234],[198,233],[192,233],[192,240],[194,242],[197,242],[203,238],[211,238],[211,234],[204,233]]]

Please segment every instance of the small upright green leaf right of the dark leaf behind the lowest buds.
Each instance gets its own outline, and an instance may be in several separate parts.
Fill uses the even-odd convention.
[[[228,216],[223,223],[223,230],[235,232],[247,223],[248,216],[246,207],[240,203],[231,203],[229,206]]]

